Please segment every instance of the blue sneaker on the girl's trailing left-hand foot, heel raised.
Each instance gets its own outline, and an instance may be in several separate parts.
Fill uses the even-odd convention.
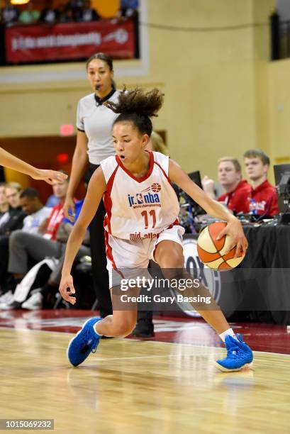
[[[100,320],[101,318],[89,318],[77,335],[70,340],[67,347],[67,358],[72,365],[80,365],[91,352],[96,352],[101,336],[96,334],[94,324]]]

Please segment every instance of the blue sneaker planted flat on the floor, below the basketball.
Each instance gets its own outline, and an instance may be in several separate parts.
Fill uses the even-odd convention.
[[[252,350],[242,340],[242,335],[237,335],[237,338],[238,340],[230,335],[225,336],[227,357],[216,361],[216,367],[223,372],[240,371],[252,366]]]

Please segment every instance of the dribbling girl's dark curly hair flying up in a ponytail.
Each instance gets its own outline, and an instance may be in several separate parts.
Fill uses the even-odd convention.
[[[117,103],[106,101],[105,104],[115,113],[120,113],[113,125],[122,121],[130,121],[141,134],[147,134],[150,137],[152,133],[150,118],[158,116],[157,113],[163,104],[163,96],[164,94],[157,87],[150,91],[138,87],[126,90],[126,87],[123,87]]]

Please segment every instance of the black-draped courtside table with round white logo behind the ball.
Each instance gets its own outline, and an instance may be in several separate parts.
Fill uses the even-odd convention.
[[[203,269],[196,252],[197,235],[184,235],[184,257],[191,274],[203,274],[206,286],[225,316],[290,324],[290,226],[247,225],[247,255],[229,272]]]

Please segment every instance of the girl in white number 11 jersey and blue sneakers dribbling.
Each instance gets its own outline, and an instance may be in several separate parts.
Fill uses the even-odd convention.
[[[105,237],[110,276],[113,269],[119,270],[120,274],[121,269],[146,269],[152,259],[160,265],[165,277],[167,274],[173,277],[170,270],[179,270],[178,277],[190,279],[184,270],[184,229],[179,226],[179,204],[169,180],[186,191],[208,214],[227,221],[220,237],[227,233],[231,235],[233,245],[230,248],[236,245],[237,254],[245,253],[247,249],[247,240],[237,218],[206,196],[176,162],[159,152],[144,150],[152,133],[150,117],[157,116],[162,102],[163,95],[158,89],[147,93],[140,89],[124,89],[117,103],[107,102],[110,109],[120,113],[113,123],[116,156],[101,162],[101,167],[91,177],[84,206],[69,236],[60,293],[71,304],[76,301],[70,274],[72,263],[102,198],[106,208]],[[114,286],[112,280],[110,286]],[[199,288],[200,294],[206,291]],[[207,295],[210,296],[208,292]],[[91,351],[94,352],[102,335],[124,337],[135,327],[137,304],[130,304],[130,310],[119,307],[116,310],[114,297],[113,315],[104,319],[90,318],[70,341],[67,354],[72,365],[79,365]],[[236,371],[250,365],[250,347],[243,343],[240,335],[235,335],[215,302],[211,300],[214,310],[199,307],[194,305],[221,336],[228,350],[228,356],[216,362],[217,367]]]

